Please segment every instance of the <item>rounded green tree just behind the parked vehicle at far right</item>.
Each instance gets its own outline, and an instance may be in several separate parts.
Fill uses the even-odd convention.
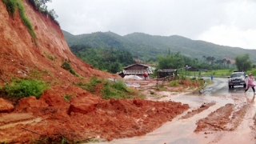
[[[234,58],[234,60],[238,70],[243,70],[243,71],[251,70],[252,62],[250,61],[249,54],[238,55]]]

